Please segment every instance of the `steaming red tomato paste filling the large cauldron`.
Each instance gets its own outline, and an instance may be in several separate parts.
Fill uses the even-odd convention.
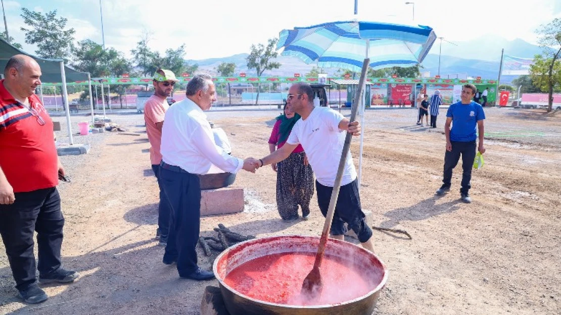
[[[349,260],[325,255],[321,264],[323,290],[319,299],[301,296],[302,281],[314,265],[315,253],[288,252],[255,258],[228,273],[224,283],[237,292],[265,302],[288,305],[325,305],[362,297],[382,280]]]

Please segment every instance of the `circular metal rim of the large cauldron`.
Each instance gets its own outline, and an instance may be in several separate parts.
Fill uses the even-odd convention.
[[[376,292],[378,292],[379,290],[384,288],[385,283],[388,280],[389,274],[388,274],[388,269],[386,268],[384,262],[378,257],[378,255],[376,255],[375,253],[370,252],[369,250],[366,250],[365,248],[362,248],[361,246],[358,246],[356,244],[346,242],[346,241],[341,241],[339,239],[334,239],[334,238],[329,238],[329,242],[334,241],[335,243],[355,246],[359,251],[363,251],[367,255],[374,256],[376,258],[376,260],[378,260],[378,262],[380,262],[381,270],[384,271],[384,276],[382,277],[380,283],[377,286],[375,286],[374,289],[370,290],[369,292],[367,292],[364,295],[361,295],[360,297],[357,297],[355,299],[348,300],[348,301],[345,301],[345,302],[342,302],[342,303],[321,304],[321,305],[278,304],[278,303],[266,302],[264,300],[258,300],[258,299],[249,297],[245,294],[242,294],[242,293],[238,292],[238,290],[236,290],[236,289],[232,288],[231,286],[227,285],[226,283],[224,283],[224,279],[222,279],[222,277],[218,273],[218,262],[220,261],[220,259],[222,259],[222,256],[227,255],[228,252],[234,250],[236,247],[244,246],[247,243],[256,242],[256,241],[259,241],[259,240],[263,241],[263,239],[294,238],[294,237],[296,237],[296,238],[314,238],[314,239],[318,239],[318,242],[319,242],[319,238],[320,238],[318,236],[303,236],[303,235],[297,235],[297,234],[288,234],[288,235],[282,235],[282,236],[268,236],[268,237],[261,237],[261,238],[253,238],[253,239],[249,239],[247,241],[237,243],[234,246],[226,248],[226,250],[224,250],[222,253],[220,253],[220,255],[218,255],[215,258],[214,263],[213,263],[213,272],[214,272],[214,275],[215,275],[216,279],[218,280],[218,282],[221,286],[224,286],[224,288],[227,288],[229,291],[231,291],[231,292],[233,292],[237,295],[240,295],[240,297],[251,300],[251,302],[271,305],[271,306],[274,306],[274,307],[286,307],[286,308],[295,308],[295,309],[302,309],[302,308],[304,308],[304,309],[316,309],[316,308],[318,308],[319,309],[319,308],[330,308],[330,307],[339,306],[339,305],[351,304],[351,303],[355,303],[357,301],[360,301],[362,299],[365,299],[365,298],[369,297],[370,295],[375,294]]]

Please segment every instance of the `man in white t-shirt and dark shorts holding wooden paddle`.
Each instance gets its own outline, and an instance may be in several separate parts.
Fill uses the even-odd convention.
[[[296,83],[290,87],[287,97],[288,107],[297,112],[302,119],[293,126],[286,144],[260,159],[258,163],[260,163],[259,167],[278,163],[286,159],[297,145],[301,144],[316,176],[318,204],[321,213],[325,216],[346,136],[343,131],[359,135],[360,125],[358,121],[351,123],[329,107],[314,107],[313,99],[314,91],[309,84]],[[344,240],[344,233],[347,232],[344,223],[347,223],[357,234],[362,246],[374,252],[372,229],[365,218],[360,206],[355,165],[349,152],[331,224],[331,237]]]

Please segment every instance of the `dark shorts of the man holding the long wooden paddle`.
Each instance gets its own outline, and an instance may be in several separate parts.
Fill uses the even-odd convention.
[[[325,217],[329,209],[329,200],[333,187],[321,185],[316,181],[316,192],[318,192],[318,205],[321,214]],[[366,223],[366,215],[360,206],[360,196],[358,195],[358,180],[350,184],[341,186],[333,222],[331,223],[331,235],[344,235],[348,230],[345,223],[355,231],[358,241],[364,243],[372,237],[372,229]]]

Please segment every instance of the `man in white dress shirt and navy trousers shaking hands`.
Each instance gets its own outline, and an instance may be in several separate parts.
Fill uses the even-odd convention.
[[[197,175],[208,173],[212,164],[224,172],[255,172],[254,159],[238,159],[215,144],[204,110],[216,101],[212,77],[197,74],[187,84],[187,98],[165,112],[162,129],[160,176],[172,208],[168,243],[163,263],[177,262],[181,278],[213,279],[211,271],[197,266],[195,247],[199,239],[201,188]]]

